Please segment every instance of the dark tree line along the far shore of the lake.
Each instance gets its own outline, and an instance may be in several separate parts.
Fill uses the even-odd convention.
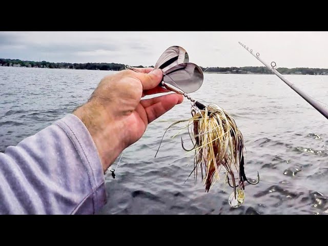
[[[49,61],[30,61],[19,59],[3,59],[0,58],[0,66],[7,67],[27,67],[27,68],[57,68],[57,69],[86,69],[86,70],[124,70],[125,64],[117,63],[50,63]],[[143,68],[143,66],[136,66]],[[151,66],[153,67],[153,66]],[[234,73],[234,74],[271,74],[271,71],[266,67],[207,67],[201,69],[205,72],[212,73]],[[325,75],[328,74],[328,69],[319,68],[277,68],[281,74],[310,74],[310,75]]]

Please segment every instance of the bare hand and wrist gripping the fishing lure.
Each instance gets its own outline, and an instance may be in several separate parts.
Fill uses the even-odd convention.
[[[150,122],[183,101],[176,93],[141,100],[145,95],[169,91],[158,87],[161,70],[135,70],[139,72],[124,70],[104,77],[88,102],[73,112],[89,130],[104,172],[141,138]]]

